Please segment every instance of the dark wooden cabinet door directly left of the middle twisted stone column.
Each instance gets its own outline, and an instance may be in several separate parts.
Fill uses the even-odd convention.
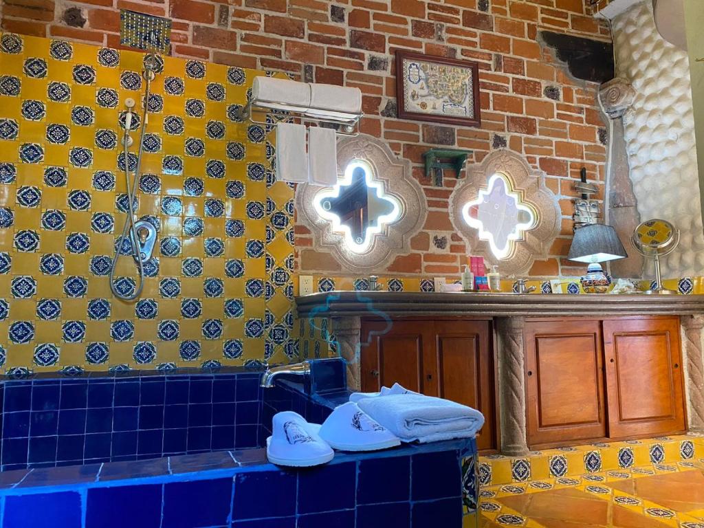
[[[496,449],[494,357],[489,322],[436,321],[434,341],[434,368],[426,369],[437,372],[432,396],[482,411],[485,421],[477,435],[477,447]]]

